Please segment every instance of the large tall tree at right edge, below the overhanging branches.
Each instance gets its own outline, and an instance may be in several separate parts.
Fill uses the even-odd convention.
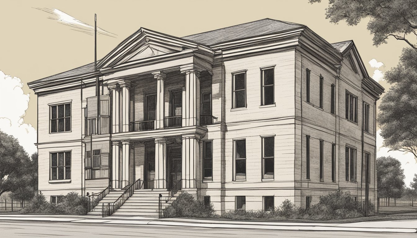
[[[381,127],[384,146],[407,151],[417,163],[417,53],[403,50],[397,67],[385,73],[394,84],[381,100],[377,121]]]

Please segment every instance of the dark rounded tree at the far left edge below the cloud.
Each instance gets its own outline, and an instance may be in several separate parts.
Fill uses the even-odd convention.
[[[22,165],[28,160],[28,153],[16,138],[0,130],[0,195],[10,191],[11,179],[22,172]]]

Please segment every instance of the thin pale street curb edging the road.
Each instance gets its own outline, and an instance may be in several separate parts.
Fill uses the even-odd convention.
[[[31,216],[0,216],[0,221],[51,221],[73,223],[108,223],[122,225],[166,225],[186,226],[198,228],[237,228],[260,230],[312,230],[312,231],[359,231],[359,232],[389,232],[389,233],[417,233],[416,228],[377,228],[377,227],[351,227],[334,225],[281,225],[281,224],[254,224],[254,223],[209,223],[209,222],[185,222],[170,220],[133,220],[128,218],[82,218],[82,217],[31,217]]]

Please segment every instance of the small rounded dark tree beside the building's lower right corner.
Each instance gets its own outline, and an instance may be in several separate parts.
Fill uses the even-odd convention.
[[[381,198],[401,198],[404,191],[404,169],[391,156],[377,158],[378,196]]]

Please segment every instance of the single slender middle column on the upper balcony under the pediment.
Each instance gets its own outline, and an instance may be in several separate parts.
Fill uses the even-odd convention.
[[[166,75],[161,71],[153,72],[153,78],[156,78],[156,118],[155,129],[163,128],[165,118],[165,78]]]

